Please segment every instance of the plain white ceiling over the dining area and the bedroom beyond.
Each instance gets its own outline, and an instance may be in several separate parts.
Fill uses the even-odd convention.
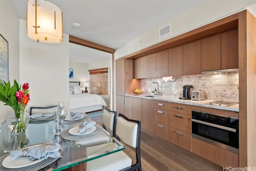
[[[26,20],[28,0],[11,0]],[[63,12],[63,32],[116,49],[202,0],[47,0]],[[76,29],[73,23],[81,24]],[[70,61],[94,63],[110,54],[70,43]]]

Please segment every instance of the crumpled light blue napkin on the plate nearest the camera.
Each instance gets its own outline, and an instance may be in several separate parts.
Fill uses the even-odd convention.
[[[58,143],[52,141],[39,146],[32,146],[29,149],[19,149],[10,151],[10,155],[17,155],[22,157],[30,158],[31,160],[43,159],[43,158],[60,158],[59,150],[61,149]]]

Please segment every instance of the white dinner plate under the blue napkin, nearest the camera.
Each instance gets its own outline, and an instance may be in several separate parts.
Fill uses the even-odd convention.
[[[37,146],[37,145],[36,145]],[[45,158],[44,158],[45,159]],[[31,160],[27,157],[21,157],[16,155],[8,155],[2,162],[2,165],[6,168],[14,169],[14,168],[20,168],[25,167],[29,165],[34,165],[40,161],[43,161],[44,159],[37,159],[37,160]]]

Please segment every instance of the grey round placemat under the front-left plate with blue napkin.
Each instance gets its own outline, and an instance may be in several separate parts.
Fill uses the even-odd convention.
[[[30,145],[28,147],[32,147],[32,146],[35,146],[35,145],[43,145],[44,143],[39,143],[39,144],[34,144],[34,145]],[[24,148],[28,148],[28,147],[24,147]],[[63,153],[63,147],[62,145],[60,145],[60,147],[62,148],[62,150],[60,151],[60,154],[62,155]],[[34,163],[32,165],[28,165],[28,166],[25,166],[25,167],[17,167],[17,168],[6,168],[2,165],[2,162],[4,161],[4,159],[6,157],[8,157],[10,154],[9,153],[6,153],[2,156],[0,156],[0,170],[1,171],[35,171],[35,170],[39,170],[39,169],[42,169],[50,164],[52,164],[54,161],[58,160],[59,158],[51,158],[51,157],[48,157],[47,159],[44,159],[38,163]]]

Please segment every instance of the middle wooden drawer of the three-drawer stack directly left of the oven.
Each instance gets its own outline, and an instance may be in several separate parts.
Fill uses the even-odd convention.
[[[170,126],[191,133],[191,116],[170,111]]]

